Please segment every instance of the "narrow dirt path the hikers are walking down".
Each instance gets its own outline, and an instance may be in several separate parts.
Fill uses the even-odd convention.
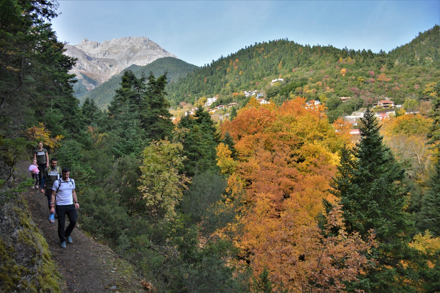
[[[29,162],[20,161],[18,169],[26,178],[30,178]],[[27,174],[29,173],[29,174]],[[62,275],[64,284],[62,292],[94,293],[94,292],[147,292],[143,290],[141,278],[131,266],[125,264],[108,246],[95,242],[92,237],[75,227],[72,233],[72,244],[66,248],[59,246],[58,222],[49,223],[48,201],[39,190],[31,189],[23,193],[28,202],[28,210],[32,220],[37,224],[48,242],[55,260],[55,267]],[[80,202],[81,205],[81,202]],[[81,217],[81,206],[78,219]],[[66,227],[69,220],[66,217]],[[127,271],[131,271],[128,273]]]

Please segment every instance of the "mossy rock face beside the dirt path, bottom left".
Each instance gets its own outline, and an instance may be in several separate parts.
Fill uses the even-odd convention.
[[[17,194],[0,202],[0,292],[61,292],[61,276],[26,201]]]

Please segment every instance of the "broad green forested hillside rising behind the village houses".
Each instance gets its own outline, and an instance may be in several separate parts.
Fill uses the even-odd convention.
[[[218,95],[213,106],[258,90],[277,105],[291,96],[326,102],[331,120],[385,99],[403,104],[427,99],[426,85],[440,78],[439,26],[389,53],[309,46],[289,40],[255,43],[189,73],[167,88],[173,107]],[[275,82],[273,79],[282,78]],[[351,97],[342,105],[339,97]],[[354,99],[353,99],[354,98]]]

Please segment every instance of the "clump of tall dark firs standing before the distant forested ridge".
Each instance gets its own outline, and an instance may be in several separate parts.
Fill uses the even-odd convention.
[[[171,136],[173,128],[165,99],[166,73],[158,79],[153,73],[137,78],[127,70],[120,84],[107,113],[110,148],[117,157],[139,153],[150,141]]]

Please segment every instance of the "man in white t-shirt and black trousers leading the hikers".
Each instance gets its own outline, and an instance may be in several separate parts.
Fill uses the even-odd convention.
[[[73,228],[77,224],[78,213],[77,209],[80,208],[77,199],[77,193],[75,192],[75,181],[69,178],[70,169],[62,169],[62,178],[55,180],[52,186],[51,202],[49,203],[49,209],[51,213],[55,213],[54,204],[56,204],[56,213],[58,216],[58,237],[61,241],[61,247],[66,248],[67,243],[72,243]],[[69,226],[64,230],[64,224],[66,223],[66,215],[69,218]]]

